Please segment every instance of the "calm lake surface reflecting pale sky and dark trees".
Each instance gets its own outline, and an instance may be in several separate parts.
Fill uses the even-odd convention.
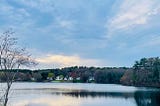
[[[14,83],[9,106],[160,106],[160,91],[115,84]]]

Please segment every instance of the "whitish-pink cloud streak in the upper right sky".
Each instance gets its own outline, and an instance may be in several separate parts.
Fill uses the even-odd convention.
[[[126,30],[135,25],[147,24],[150,17],[160,13],[159,0],[124,0],[119,10],[107,23],[109,31]]]

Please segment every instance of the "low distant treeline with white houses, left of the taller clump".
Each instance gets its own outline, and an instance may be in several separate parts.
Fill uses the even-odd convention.
[[[68,81],[68,82],[81,82],[81,83],[120,83],[120,78],[124,75],[126,67],[83,67],[74,66],[62,69],[41,69],[41,70],[27,70],[27,69],[14,69],[17,74],[15,81]],[[9,71],[9,70],[8,70]],[[5,71],[7,72],[7,71]],[[10,72],[10,71],[9,71]],[[3,76],[4,71],[1,70],[0,80],[6,81]],[[57,79],[58,78],[58,79]]]

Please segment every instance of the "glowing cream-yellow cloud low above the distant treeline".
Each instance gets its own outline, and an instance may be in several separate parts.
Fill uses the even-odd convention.
[[[56,65],[56,67],[69,67],[69,66],[99,66],[102,65],[100,60],[85,59],[78,55],[46,55],[45,57],[39,57],[36,59],[40,65]]]

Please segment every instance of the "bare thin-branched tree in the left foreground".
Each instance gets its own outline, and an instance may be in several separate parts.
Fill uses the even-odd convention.
[[[12,37],[13,34],[12,30],[8,30],[0,36],[0,75],[5,78],[6,83],[0,98],[3,106],[7,106],[11,85],[17,73],[16,69],[21,66],[36,65],[26,49],[17,46],[17,39]]]

